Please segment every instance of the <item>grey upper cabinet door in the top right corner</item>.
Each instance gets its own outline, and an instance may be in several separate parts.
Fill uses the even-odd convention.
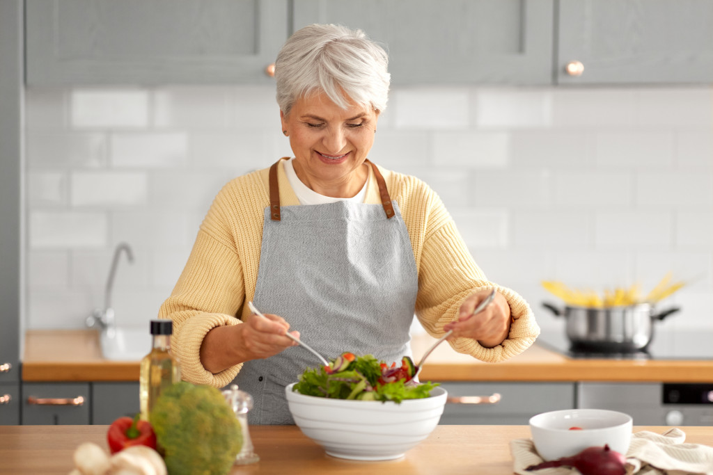
[[[558,2],[560,84],[713,82],[713,2]],[[579,61],[580,76],[565,66]]]

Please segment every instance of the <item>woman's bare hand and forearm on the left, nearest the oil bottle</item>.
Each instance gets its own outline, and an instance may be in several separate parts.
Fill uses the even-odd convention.
[[[297,345],[284,335],[289,323],[279,315],[252,315],[240,325],[215,327],[203,338],[200,345],[200,362],[214,375],[231,366],[249,360],[259,360],[277,355],[282,350]],[[299,338],[298,331],[290,332]]]

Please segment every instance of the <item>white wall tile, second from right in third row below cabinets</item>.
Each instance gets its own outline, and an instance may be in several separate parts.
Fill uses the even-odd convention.
[[[558,172],[555,207],[627,209],[633,202],[633,179],[621,172]]]

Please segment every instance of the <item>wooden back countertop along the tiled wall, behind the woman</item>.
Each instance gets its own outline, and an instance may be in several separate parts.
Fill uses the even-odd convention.
[[[414,359],[434,341],[416,335]],[[95,330],[26,332],[24,381],[138,381],[138,375],[138,361],[101,356]],[[535,344],[506,362],[485,363],[443,343],[424,365],[421,380],[713,382],[713,360],[575,360]]]

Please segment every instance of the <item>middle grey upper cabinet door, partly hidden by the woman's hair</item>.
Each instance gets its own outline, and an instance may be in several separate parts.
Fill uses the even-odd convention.
[[[293,18],[361,28],[395,85],[552,83],[551,0],[294,0]]]

